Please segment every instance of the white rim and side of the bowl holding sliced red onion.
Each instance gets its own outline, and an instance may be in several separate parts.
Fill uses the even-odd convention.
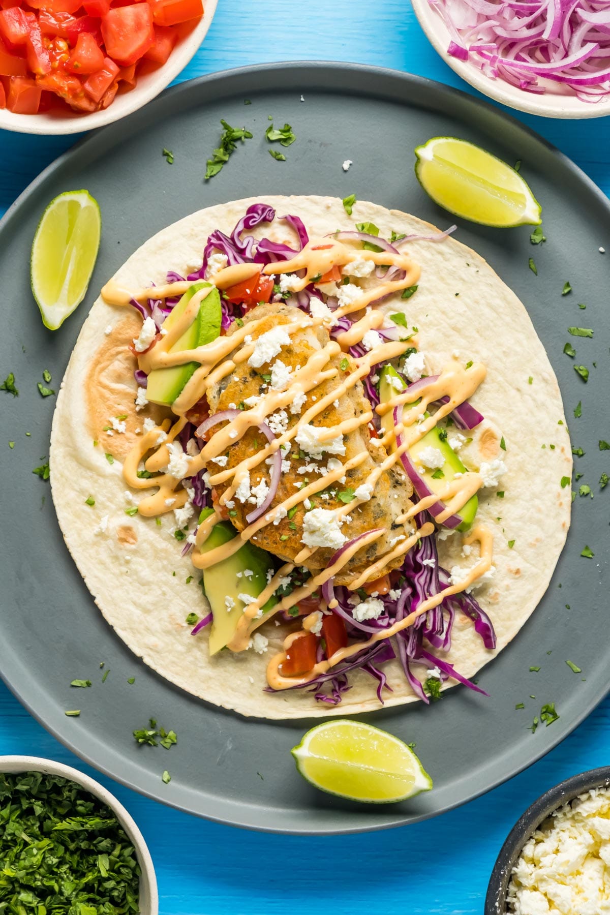
[[[558,95],[552,92],[534,95],[532,92],[523,92],[518,86],[511,86],[504,80],[492,80],[479,70],[475,63],[458,60],[447,54],[451,37],[442,18],[434,12],[428,0],[412,0],[412,5],[420,26],[444,62],[455,70],[458,76],[479,92],[488,95],[490,99],[516,108],[519,112],[540,114],[542,117],[585,118],[604,117],[610,114],[610,97],[592,104],[581,102],[575,95]]]

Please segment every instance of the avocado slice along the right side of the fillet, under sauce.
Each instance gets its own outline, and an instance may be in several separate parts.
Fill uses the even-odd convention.
[[[395,382],[396,386],[394,387],[391,384],[390,379],[398,379]],[[400,387],[399,387],[400,382]],[[391,397],[405,387],[404,382],[401,379],[399,373],[391,366],[384,365],[383,369],[380,371],[380,401],[381,403],[386,403],[391,400]],[[414,404],[411,404],[411,408],[419,404],[419,400],[415,401]],[[405,404],[405,409],[409,408],[408,404]],[[394,428],[394,417],[391,412],[384,414],[381,417],[381,426],[385,432],[389,432]],[[454,449],[449,445],[449,442],[446,438],[441,438],[441,430],[438,428],[433,428],[428,432],[423,438],[417,442],[415,445],[409,448],[409,455],[412,459],[418,461],[418,455],[426,447],[438,448],[441,454],[444,457],[444,465],[442,468],[443,476],[435,478],[433,474],[436,472],[429,468],[423,468],[424,473],[422,479],[425,481],[426,486],[432,492],[438,492],[443,486],[444,483],[450,482],[454,479],[456,473],[466,473],[466,467],[455,453]],[[391,450],[395,450],[396,443],[395,441],[391,445]],[[463,519],[462,523],[457,528],[458,531],[467,531],[468,528],[472,527],[472,523],[475,520],[476,510],[478,508],[478,499],[475,496],[472,496],[467,502],[464,508],[459,512],[460,517]]]

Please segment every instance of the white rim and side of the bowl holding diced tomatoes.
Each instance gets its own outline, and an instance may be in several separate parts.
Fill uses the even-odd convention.
[[[94,127],[112,124],[142,108],[159,92],[163,92],[178,73],[187,66],[195,56],[203,41],[216,12],[218,0],[204,0],[204,13],[197,25],[188,27],[178,38],[176,47],[162,67],[144,73],[131,90],[124,94],[119,92],[108,108],[100,112],[80,113],[72,111],[67,105],[62,112],[42,112],[39,114],[15,114],[6,108],[0,109],[0,129],[13,130],[18,134],[80,134]]]

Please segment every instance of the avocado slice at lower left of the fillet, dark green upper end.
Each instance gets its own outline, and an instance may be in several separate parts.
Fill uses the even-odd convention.
[[[213,509],[203,509],[199,515],[199,523],[213,512]],[[236,536],[237,531],[230,522],[218,522],[214,525],[208,540],[201,547],[201,552],[208,553],[209,550],[226,544]],[[217,651],[228,645],[235,635],[244,608],[238,595],[249,594],[251,597],[258,597],[267,586],[269,569],[273,570],[271,556],[260,547],[246,542],[237,553],[229,556],[228,559],[222,559],[219,563],[203,570],[203,587],[214,617],[209,632],[210,655],[216,654]],[[238,578],[237,573],[243,573],[246,570],[254,574],[241,575]],[[234,601],[234,607],[227,608],[226,597],[230,597]],[[270,597],[263,606],[262,612],[268,613],[276,603],[277,597]]]

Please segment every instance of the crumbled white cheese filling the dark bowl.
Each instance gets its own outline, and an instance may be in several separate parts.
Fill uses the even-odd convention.
[[[587,791],[540,824],[513,868],[507,911],[610,912],[610,791]]]

